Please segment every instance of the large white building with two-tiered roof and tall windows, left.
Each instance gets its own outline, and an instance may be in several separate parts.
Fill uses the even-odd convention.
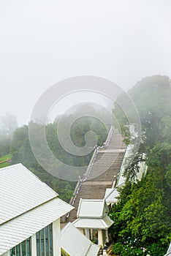
[[[60,217],[72,206],[21,164],[0,169],[0,255],[61,256]]]

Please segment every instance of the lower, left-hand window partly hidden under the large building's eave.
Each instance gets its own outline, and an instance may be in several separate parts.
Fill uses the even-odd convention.
[[[10,256],[31,256],[31,238],[10,249]]]

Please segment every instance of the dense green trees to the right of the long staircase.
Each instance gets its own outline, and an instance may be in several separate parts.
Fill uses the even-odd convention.
[[[171,88],[170,78],[155,75],[140,80],[129,90],[142,126],[139,150],[126,167],[125,185],[118,189],[118,203],[110,210],[114,255],[164,255],[171,241]],[[132,109],[126,94],[118,102]],[[126,141],[130,141],[125,113],[113,110]],[[134,124],[136,127],[136,124]],[[146,176],[137,181],[138,162],[148,165]]]

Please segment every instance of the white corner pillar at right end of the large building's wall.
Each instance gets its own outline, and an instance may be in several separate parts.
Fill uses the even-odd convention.
[[[60,218],[53,222],[53,256],[61,256]]]

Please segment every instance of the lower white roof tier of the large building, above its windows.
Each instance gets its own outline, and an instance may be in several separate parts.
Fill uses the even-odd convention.
[[[0,225],[0,255],[71,211],[72,208],[56,197]]]

